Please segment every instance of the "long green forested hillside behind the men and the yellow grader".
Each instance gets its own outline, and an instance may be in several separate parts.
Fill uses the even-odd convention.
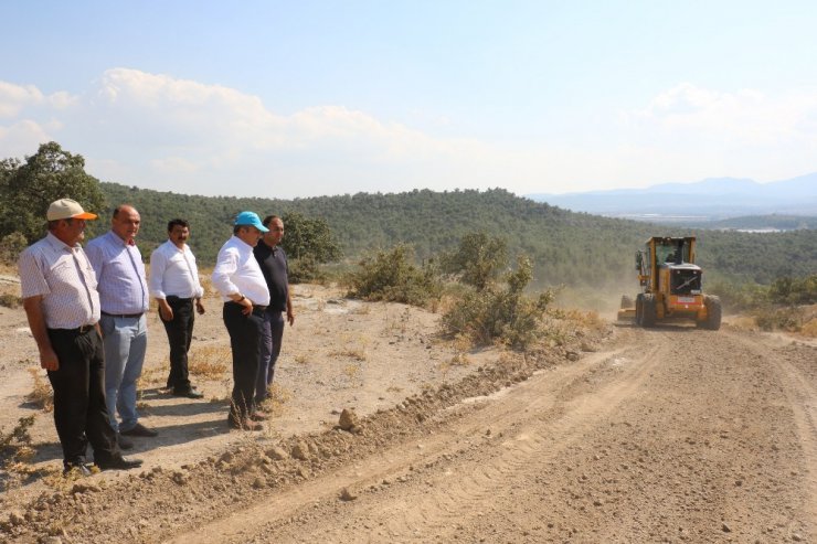
[[[768,284],[781,276],[817,270],[817,231],[751,234],[693,232],[640,222],[569,212],[516,196],[505,190],[320,196],[291,201],[209,198],[158,192],[103,183],[109,210],[131,203],[142,214],[142,253],[165,239],[171,217],[191,222],[191,246],[203,264],[212,263],[232,232],[232,218],[243,210],[259,215],[300,212],[328,222],[344,257],[405,242],[418,258],[450,249],[475,231],[502,236],[511,255],[524,253],[534,263],[538,285],[593,285],[633,281],[634,254],[651,235],[699,236],[699,264],[713,276]],[[104,225],[99,225],[104,227]],[[98,230],[98,228],[97,228]]]

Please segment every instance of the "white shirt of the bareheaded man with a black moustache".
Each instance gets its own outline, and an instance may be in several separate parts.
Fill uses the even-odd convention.
[[[150,254],[150,296],[167,299],[201,298],[204,289],[199,281],[199,269],[190,247],[179,249],[171,241],[165,242]]]

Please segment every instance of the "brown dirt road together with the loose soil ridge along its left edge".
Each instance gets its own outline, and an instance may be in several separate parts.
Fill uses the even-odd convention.
[[[817,542],[814,344],[617,327],[576,361],[486,366],[353,430],[266,449],[247,442],[180,471],[81,489],[73,502],[87,515],[51,533],[64,542]],[[60,503],[44,498],[33,510],[45,519]]]

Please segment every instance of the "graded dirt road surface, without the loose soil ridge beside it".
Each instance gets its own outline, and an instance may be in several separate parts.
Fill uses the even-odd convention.
[[[816,424],[814,346],[620,329],[174,542],[810,542]]]

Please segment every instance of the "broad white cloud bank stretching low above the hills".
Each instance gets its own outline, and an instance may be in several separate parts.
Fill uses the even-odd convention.
[[[55,139],[105,181],[293,198],[783,179],[814,171],[817,149],[817,94],[808,92],[774,96],[681,84],[618,120],[577,126],[570,146],[559,143],[560,135],[523,143],[438,138],[343,106],[288,115],[273,106],[221,85],[129,68],[106,71],[81,95],[45,96],[0,82],[0,118],[10,119],[0,125],[0,157],[31,154]]]

